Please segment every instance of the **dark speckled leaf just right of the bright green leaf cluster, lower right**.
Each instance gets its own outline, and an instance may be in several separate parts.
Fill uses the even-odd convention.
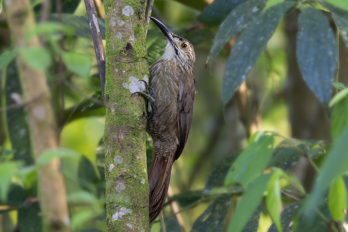
[[[324,154],[325,149],[322,141],[288,138],[274,149],[267,167],[277,167],[287,171],[303,157],[303,154],[308,154],[315,160]]]

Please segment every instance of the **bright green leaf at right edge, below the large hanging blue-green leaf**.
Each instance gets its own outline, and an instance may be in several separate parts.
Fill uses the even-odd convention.
[[[335,105],[331,115],[331,136],[333,141],[339,138],[348,123],[348,98]]]

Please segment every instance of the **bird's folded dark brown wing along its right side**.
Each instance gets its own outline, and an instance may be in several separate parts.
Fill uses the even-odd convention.
[[[193,99],[195,99],[195,82],[192,80],[186,81],[188,82],[186,83],[186,86],[182,79],[180,79],[178,83],[179,96],[177,99],[177,126],[179,145],[177,147],[174,160],[177,160],[184,150],[192,122]]]

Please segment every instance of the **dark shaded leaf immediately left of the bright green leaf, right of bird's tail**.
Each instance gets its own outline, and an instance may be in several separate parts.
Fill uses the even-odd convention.
[[[207,193],[209,190],[213,189],[213,187],[223,184],[228,170],[238,155],[239,152],[229,155],[213,168],[213,171],[209,174],[207,182],[205,183],[204,193]]]

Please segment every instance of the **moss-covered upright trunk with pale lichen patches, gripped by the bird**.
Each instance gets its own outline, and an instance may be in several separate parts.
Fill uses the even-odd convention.
[[[108,231],[149,230],[144,0],[105,0],[105,178]]]

